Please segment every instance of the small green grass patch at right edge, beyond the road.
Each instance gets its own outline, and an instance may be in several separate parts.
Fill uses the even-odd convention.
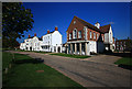
[[[120,58],[119,60],[117,60],[114,64],[117,65],[129,65],[129,66],[132,66],[132,57],[129,58],[129,57],[123,57],[123,58]]]

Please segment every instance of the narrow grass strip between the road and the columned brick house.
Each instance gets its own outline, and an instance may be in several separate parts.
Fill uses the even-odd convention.
[[[57,56],[65,56],[65,57],[73,57],[73,58],[88,58],[90,56],[85,55],[70,55],[70,54],[64,54],[64,53],[56,53],[56,54],[50,54],[50,55],[57,55]]]

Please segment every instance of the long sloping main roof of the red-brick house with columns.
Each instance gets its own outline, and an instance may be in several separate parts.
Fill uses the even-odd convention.
[[[98,32],[101,32],[101,33],[103,33],[101,30],[99,30],[98,27],[96,27],[95,25],[92,25],[92,24],[90,24],[90,23],[88,23],[88,22],[86,22],[86,21],[84,21],[84,20],[81,20],[81,19],[79,19],[79,18],[77,18],[77,16],[74,16],[74,18],[76,18],[80,23],[82,23],[85,26],[88,26],[88,27],[90,27],[90,29],[92,29],[92,30],[95,30],[95,31],[98,31]]]

